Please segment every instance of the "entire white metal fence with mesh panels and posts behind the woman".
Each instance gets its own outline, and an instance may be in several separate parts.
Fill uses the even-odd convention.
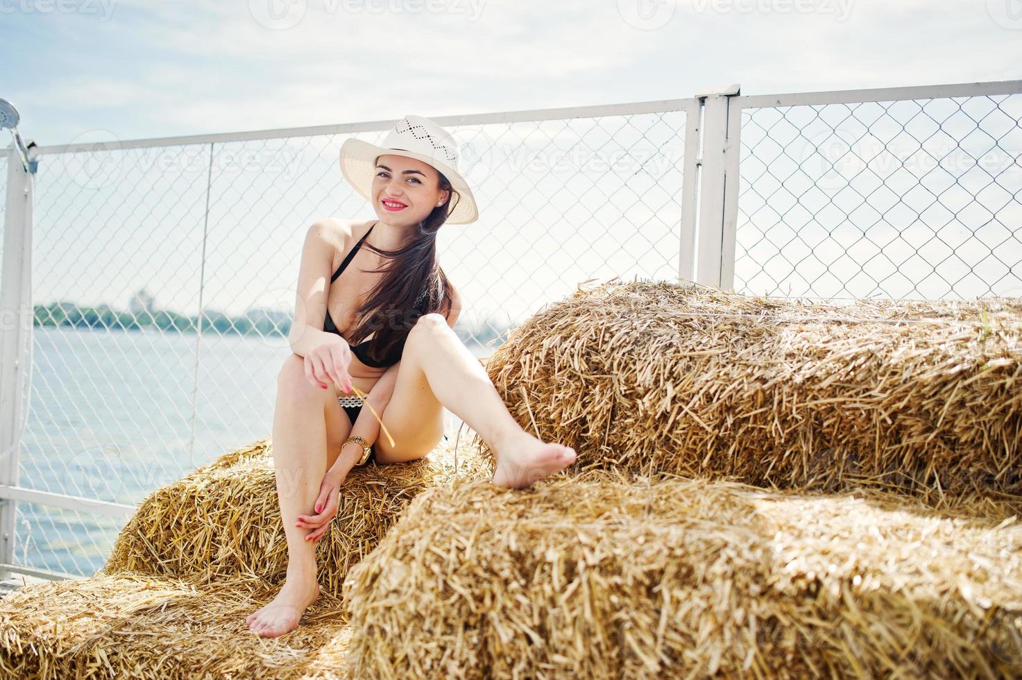
[[[735,85],[683,99],[436,118],[459,139],[481,208],[477,223],[438,234],[442,265],[466,299],[457,330],[484,354],[490,338],[577,282],[612,276],[822,298],[901,292],[850,244],[847,262],[829,268],[843,288],[806,278],[812,258],[829,262],[840,247],[822,245],[822,234],[875,238],[876,228],[841,193],[866,190],[874,160],[825,154],[820,167],[816,153],[829,147],[818,135],[843,130],[831,119],[838,109],[883,132],[886,121],[863,116],[870,102],[913,133],[919,121],[901,106],[918,115],[949,105],[972,114],[970,132],[995,140],[1005,157],[994,177],[1011,187],[1017,139],[992,129],[990,112],[1018,130],[1020,93],[1020,81],[751,97]],[[958,140],[953,149],[969,147],[957,121],[931,118]],[[20,306],[38,325],[26,331],[36,351],[32,401],[11,388],[0,406],[4,425],[29,414],[25,433],[3,435],[0,523],[9,540],[0,572],[91,573],[145,494],[270,434],[301,236],[319,217],[371,217],[342,182],[336,153],[343,137],[377,141],[392,124],[37,147],[34,219],[11,212],[22,180],[8,172],[3,310]],[[924,141],[934,134],[931,126]],[[884,148],[895,166],[908,163],[900,147]],[[894,184],[898,197],[932,189],[926,177]],[[919,224],[881,206],[876,191],[863,196],[885,208],[878,212],[895,231],[917,235]],[[979,191],[964,200],[995,207]],[[977,228],[973,216],[956,217]],[[788,244],[792,233],[802,250]],[[34,264],[7,253],[25,251],[27,238]],[[1022,271],[1010,239],[990,252],[1013,276]],[[19,286],[30,271],[34,283]],[[902,273],[919,279],[909,292],[933,290],[923,281],[931,272]],[[942,297],[1010,293],[1012,280],[959,283]],[[117,309],[125,300],[133,310]],[[90,331],[72,327],[86,323],[85,308]],[[126,319],[145,327],[122,330]],[[18,378],[6,358],[24,352],[19,332],[3,328],[5,386]]]

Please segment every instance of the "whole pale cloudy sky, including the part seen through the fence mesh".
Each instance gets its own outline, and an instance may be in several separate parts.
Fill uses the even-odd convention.
[[[0,0],[0,31],[8,64],[0,97],[17,106],[22,137],[40,145],[676,99],[733,84],[750,95],[1022,77],[1022,0]],[[970,102],[948,129],[955,124],[965,135],[971,117],[987,116],[992,105],[986,98]],[[772,199],[768,211],[765,189],[750,189],[756,173],[776,177],[757,163],[776,176],[781,169],[743,156],[736,278],[771,294],[940,297],[951,285],[959,294],[1019,294],[1022,231],[1003,223],[1017,224],[1022,213],[1022,95],[1001,105],[984,119],[984,134],[968,140],[978,157],[1015,126],[988,158],[1004,171],[1000,186],[984,189],[990,176],[970,178],[968,168],[930,173],[929,185],[899,172],[888,186],[916,197],[911,210],[891,203],[882,215],[865,214],[851,189],[875,187],[852,186],[838,169],[829,184],[811,187],[820,194],[811,214],[794,205],[804,201],[790,195],[790,185],[787,203]],[[897,143],[908,141],[910,155],[918,145],[912,135],[933,134],[926,128],[931,119],[911,106],[886,118],[892,134],[904,128],[909,136]],[[955,106],[928,110],[939,118]],[[476,320],[521,318],[594,277],[677,274],[684,121],[668,112],[623,124],[590,119],[459,130],[491,146],[498,140],[509,154],[595,149],[591,155],[601,160],[629,152],[633,164],[609,175],[580,167],[565,174],[553,162],[539,171],[486,166],[479,222],[445,228],[438,243],[445,270]],[[779,138],[791,133],[771,130]],[[801,147],[786,148],[789,155],[833,146],[832,132],[860,134],[847,125],[803,128],[800,137],[793,130]],[[761,131],[743,124],[747,139]],[[879,126],[873,132],[880,134]],[[381,135],[362,138],[378,142]],[[958,153],[964,137],[928,139],[937,153]],[[311,221],[373,217],[337,170],[342,141],[332,135],[237,145],[261,164],[267,152],[295,160],[285,163],[287,173],[274,174],[267,162],[258,175],[224,170],[220,161],[231,145],[222,145],[208,202],[208,153],[200,145],[156,156],[127,151],[113,172],[100,164],[98,175],[78,165],[95,157],[44,156],[36,300],[123,309],[146,286],[184,313],[200,304],[229,313],[288,305]],[[872,153],[878,143],[890,150],[876,139],[852,150]],[[635,162],[640,151],[648,166]],[[853,160],[844,169],[866,177]],[[895,169],[904,161],[895,158]],[[887,165],[881,175],[890,172]],[[650,174],[653,166],[660,174]],[[962,203],[951,214],[949,200],[931,210],[934,191],[961,191],[963,180],[972,182],[969,210]],[[842,191],[854,200],[842,203]],[[840,257],[823,255],[828,248]],[[929,271],[938,262],[941,270]],[[68,278],[67,271],[78,275]],[[195,285],[200,276],[203,285]],[[854,286],[843,285],[853,277]]]

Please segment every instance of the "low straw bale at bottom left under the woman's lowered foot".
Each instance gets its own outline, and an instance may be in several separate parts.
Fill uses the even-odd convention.
[[[344,677],[351,629],[340,602],[323,593],[297,630],[260,638],[245,617],[275,594],[260,579],[131,572],[24,586],[0,599],[0,676]]]

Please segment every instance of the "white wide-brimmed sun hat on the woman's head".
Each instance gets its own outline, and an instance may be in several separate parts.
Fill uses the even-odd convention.
[[[468,224],[479,219],[475,197],[465,178],[458,172],[461,155],[458,142],[435,122],[421,116],[406,116],[387,133],[380,146],[349,137],[340,145],[340,172],[355,190],[372,201],[376,158],[385,153],[404,155],[428,163],[451,181],[456,195],[451,196],[447,221]]]

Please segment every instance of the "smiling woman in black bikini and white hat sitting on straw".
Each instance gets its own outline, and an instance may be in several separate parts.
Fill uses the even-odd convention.
[[[496,485],[525,487],[575,461],[573,449],[515,422],[452,329],[461,299],[436,263],[436,231],[478,217],[457,170],[454,138],[433,121],[407,116],[382,146],[345,140],[340,167],[377,219],[321,220],[306,234],[293,354],[280,369],[273,418],[287,579],[246,619],[265,637],[294,630],[319,595],[316,544],[337,512],[349,470],[369,457],[402,463],[425,456],[444,436],[444,407],[494,451]],[[380,424],[358,405],[353,386],[393,444],[378,437]]]

